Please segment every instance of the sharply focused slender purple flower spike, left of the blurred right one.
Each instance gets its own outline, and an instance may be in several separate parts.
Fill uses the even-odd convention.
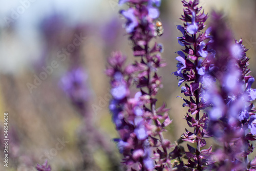
[[[206,145],[204,138],[210,137],[207,130],[208,116],[206,113],[201,115],[200,111],[205,109],[208,104],[200,96],[202,93],[202,86],[200,86],[201,77],[210,68],[208,58],[211,58],[212,52],[208,49],[209,40],[208,30],[201,32],[205,27],[205,21],[207,15],[204,12],[200,12],[202,7],[198,7],[199,1],[182,1],[184,6],[184,15],[180,18],[184,22],[184,26],[177,26],[177,29],[182,33],[181,37],[178,38],[178,42],[181,46],[185,47],[182,51],[178,51],[179,55],[176,57],[178,60],[178,70],[174,74],[181,77],[178,86],[181,86],[185,82],[185,86],[181,88],[181,93],[189,97],[189,99],[183,99],[185,103],[183,106],[187,106],[188,112],[185,117],[189,127],[194,127],[194,132],[187,131],[181,136],[181,142],[187,141],[190,143],[196,143],[197,147],[194,148],[188,146],[189,152],[185,152],[188,158],[188,163],[185,167],[189,169],[203,170],[209,167],[211,162],[208,160],[211,147],[205,151],[201,150],[201,147]],[[190,82],[190,84],[189,84]],[[195,118],[193,117],[195,115]],[[170,156],[174,158],[178,157],[179,162],[174,163],[174,167],[182,168],[183,162],[181,158],[184,156],[183,152],[179,151],[181,147],[178,146],[174,149]],[[206,155],[207,152],[207,155]]]

